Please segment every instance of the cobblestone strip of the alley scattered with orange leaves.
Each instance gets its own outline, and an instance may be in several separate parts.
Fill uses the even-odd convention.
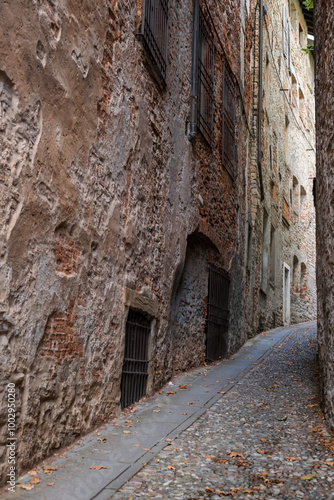
[[[265,334],[264,334],[265,335]],[[315,326],[298,326],[114,499],[334,498]]]

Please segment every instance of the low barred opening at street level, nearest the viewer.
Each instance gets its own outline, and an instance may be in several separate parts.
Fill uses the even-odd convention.
[[[150,319],[129,310],[125,331],[125,353],[121,384],[121,406],[125,408],[146,394]]]

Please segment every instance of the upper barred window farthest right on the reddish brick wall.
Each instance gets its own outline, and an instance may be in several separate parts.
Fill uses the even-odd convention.
[[[229,67],[224,64],[223,151],[222,161],[232,179],[235,177],[235,83]]]

